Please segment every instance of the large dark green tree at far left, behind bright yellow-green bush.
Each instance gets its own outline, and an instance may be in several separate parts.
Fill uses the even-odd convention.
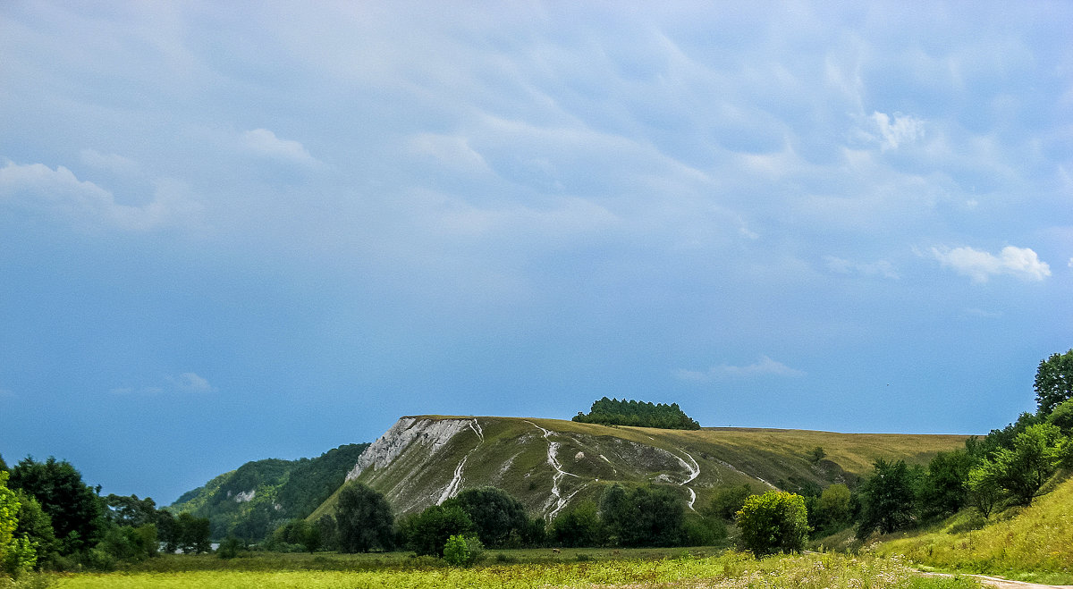
[[[48,457],[35,462],[27,457],[11,469],[9,485],[38,500],[53,520],[53,529],[64,555],[88,549],[106,529],[104,507],[97,491],[83,483],[67,460]]]

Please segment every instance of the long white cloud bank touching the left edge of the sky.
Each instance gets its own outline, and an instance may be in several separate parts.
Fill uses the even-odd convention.
[[[173,180],[157,181],[152,202],[132,206],[117,203],[111,191],[79,180],[62,165],[53,170],[40,163],[21,165],[12,161],[0,168],[0,206],[62,217],[87,227],[135,232],[187,221],[201,210],[201,205]]]

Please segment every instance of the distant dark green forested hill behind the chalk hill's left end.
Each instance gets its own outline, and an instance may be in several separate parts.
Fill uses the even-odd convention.
[[[207,517],[212,538],[260,539],[275,525],[306,517],[343,483],[369,446],[346,444],[317,458],[247,462],[185,492],[168,510]]]

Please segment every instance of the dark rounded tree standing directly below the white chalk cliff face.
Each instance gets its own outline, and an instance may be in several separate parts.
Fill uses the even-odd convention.
[[[352,481],[339,491],[336,506],[339,549],[346,553],[389,550],[395,538],[395,516],[383,494]]]

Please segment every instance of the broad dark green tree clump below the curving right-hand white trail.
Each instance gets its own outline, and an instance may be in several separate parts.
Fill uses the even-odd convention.
[[[685,501],[663,486],[627,490],[613,485],[600,500],[608,542],[620,546],[679,546],[686,538]]]

